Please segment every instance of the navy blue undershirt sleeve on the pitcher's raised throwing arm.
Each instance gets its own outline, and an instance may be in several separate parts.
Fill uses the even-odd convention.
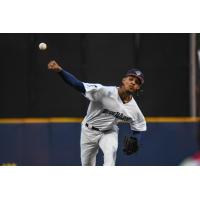
[[[85,87],[83,83],[80,80],[78,80],[74,75],[70,74],[69,72],[63,69],[62,71],[58,72],[58,74],[65,81],[65,83],[78,90],[79,92],[85,94]]]

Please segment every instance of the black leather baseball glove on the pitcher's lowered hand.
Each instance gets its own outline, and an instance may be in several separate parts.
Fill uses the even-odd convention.
[[[139,149],[137,138],[132,136],[125,136],[123,152],[126,155],[132,155]]]

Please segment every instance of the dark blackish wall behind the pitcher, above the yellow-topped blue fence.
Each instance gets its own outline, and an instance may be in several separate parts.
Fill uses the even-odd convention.
[[[145,116],[189,115],[189,34],[0,34],[0,55],[1,118],[85,115],[88,101],[47,71],[51,59],[105,85],[139,66],[145,84],[136,100]]]

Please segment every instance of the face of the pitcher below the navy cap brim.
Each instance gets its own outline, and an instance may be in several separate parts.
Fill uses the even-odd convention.
[[[122,85],[126,92],[134,93],[141,87],[141,82],[136,76],[127,76],[122,79]]]

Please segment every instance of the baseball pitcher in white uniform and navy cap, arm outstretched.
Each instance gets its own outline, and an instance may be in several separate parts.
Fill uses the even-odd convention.
[[[124,139],[124,153],[132,155],[138,151],[142,132],[146,131],[145,118],[132,96],[144,83],[144,76],[140,70],[129,70],[124,75],[121,85],[116,87],[81,82],[54,60],[48,63],[48,69],[57,72],[68,85],[90,101],[81,127],[83,166],[96,165],[99,148],[104,154],[104,165],[115,165],[119,122],[129,123],[132,130],[131,136]]]

